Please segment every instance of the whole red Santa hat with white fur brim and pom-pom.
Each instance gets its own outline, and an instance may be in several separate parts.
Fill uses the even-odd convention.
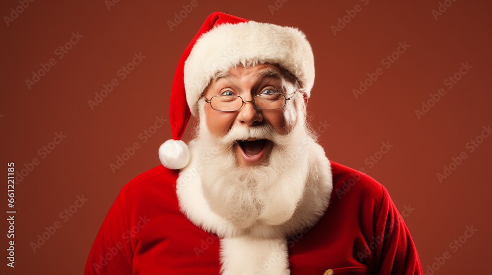
[[[181,169],[188,164],[191,154],[180,139],[191,114],[197,114],[198,99],[217,72],[247,62],[278,64],[297,78],[305,99],[310,96],[314,57],[303,32],[214,12],[186,47],[176,69],[170,104],[173,139],[159,148],[162,165]]]

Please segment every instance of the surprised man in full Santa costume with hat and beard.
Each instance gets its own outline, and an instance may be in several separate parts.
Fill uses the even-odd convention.
[[[298,29],[210,15],[175,75],[163,165],[123,187],[85,274],[422,274],[386,189],[317,144],[313,83]]]

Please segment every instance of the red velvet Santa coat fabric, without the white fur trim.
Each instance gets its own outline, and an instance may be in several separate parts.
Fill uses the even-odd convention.
[[[327,212],[288,238],[292,275],[423,274],[408,228],[386,189],[357,170],[331,162]],[[177,170],[162,165],[126,184],[92,245],[85,275],[216,275],[219,244],[179,211]],[[342,193],[343,192],[343,193]]]

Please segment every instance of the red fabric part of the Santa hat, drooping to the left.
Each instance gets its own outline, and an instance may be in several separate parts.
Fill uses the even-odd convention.
[[[240,22],[247,22],[247,20],[222,12],[212,13],[207,17],[202,27],[200,27],[195,37],[193,37],[188,44],[188,47],[184,50],[183,55],[181,55],[178,67],[176,68],[176,73],[174,74],[173,87],[171,89],[171,104],[169,108],[169,120],[171,122],[174,140],[181,139],[184,130],[186,129],[186,124],[191,116],[189,106],[186,104],[186,94],[184,92],[184,61],[188,59],[189,53],[195,45],[196,40],[200,38],[203,33],[220,24],[237,24]]]

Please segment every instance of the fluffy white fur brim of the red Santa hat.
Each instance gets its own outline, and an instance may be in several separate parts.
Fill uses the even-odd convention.
[[[314,84],[314,56],[306,35],[294,27],[249,21],[222,24],[203,34],[184,63],[186,101],[196,103],[217,72],[246,63],[279,64],[296,76],[309,97]]]

